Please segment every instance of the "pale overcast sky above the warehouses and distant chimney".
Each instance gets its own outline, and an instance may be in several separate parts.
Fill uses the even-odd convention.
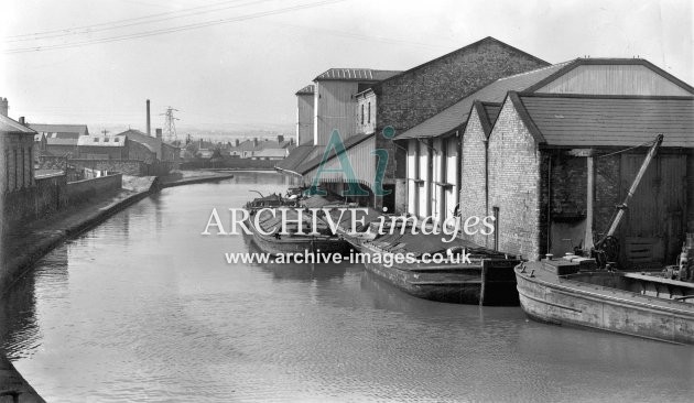
[[[3,0],[0,97],[32,122],[284,128],[330,67],[406,69],[494,36],[550,63],[639,55],[694,83],[692,2]],[[7,20],[7,21],[4,21]],[[36,48],[40,48],[36,51]]]

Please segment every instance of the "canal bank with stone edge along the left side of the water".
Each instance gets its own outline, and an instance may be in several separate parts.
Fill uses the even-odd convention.
[[[6,235],[0,251],[2,262],[0,297],[31,269],[32,264],[65,240],[94,228],[160,188],[218,182],[230,177],[234,177],[234,174],[205,172],[183,173],[161,182],[155,176],[124,176],[122,189],[112,196],[66,208],[50,218],[33,221],[20,230]],[[4,395],[12,397],[17,395],[19,402],[43,402],[12,363],[0,355],[0,401]]]

